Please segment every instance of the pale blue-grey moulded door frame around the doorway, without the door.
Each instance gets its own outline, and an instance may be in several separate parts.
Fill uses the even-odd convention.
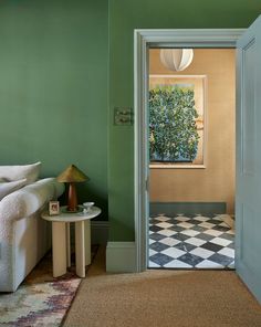
[[[148,233],[148,49],[236,48],[244,29],[135,30],[134,117],[135,117],[135,246],[136,271],[147,268]],[[238,162],[237,162],[238,165]]]

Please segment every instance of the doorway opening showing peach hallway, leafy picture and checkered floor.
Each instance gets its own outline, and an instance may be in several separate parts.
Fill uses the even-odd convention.
[[[150,48],[148,62],[147,266],[234,268],[236,50]]]

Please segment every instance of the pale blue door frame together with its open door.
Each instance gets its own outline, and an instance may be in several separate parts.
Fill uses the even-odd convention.
[[[149,48],[237,48],[236,118],[236,272],[261,302],[261,17],[247,30],[135,30],[135,247],[136,271],[147,267],[148,170],[148,50]]]

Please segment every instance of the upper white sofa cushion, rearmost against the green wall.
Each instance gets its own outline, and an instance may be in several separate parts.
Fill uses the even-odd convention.
[[[27,179],[27,184],[39,179],[41,162],[21,166],[0,166],[0,179],[14,181]]]

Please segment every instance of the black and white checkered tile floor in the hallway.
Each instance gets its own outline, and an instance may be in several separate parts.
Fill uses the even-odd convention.
[[[149,220],[148,267],[234,268],[234,232],[221,215]]]

